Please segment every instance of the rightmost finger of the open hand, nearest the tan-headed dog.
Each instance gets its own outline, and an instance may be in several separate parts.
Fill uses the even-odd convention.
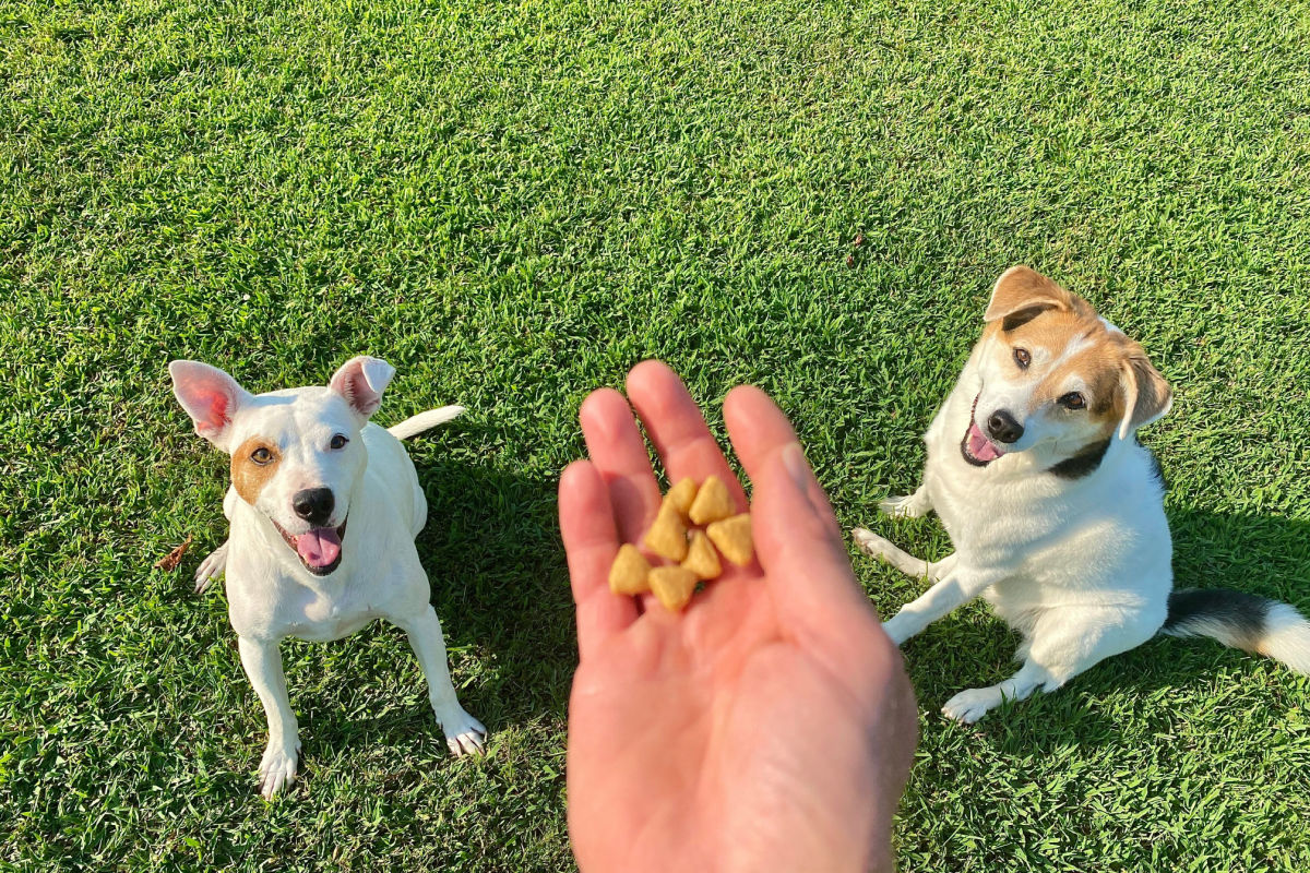
[[[723,406],[732,446],[753,484],[756,554],[790,630],[816,648],[869,631],[876,613],[855,582],[837,520],[795,432],[758,389],[739,387]]]

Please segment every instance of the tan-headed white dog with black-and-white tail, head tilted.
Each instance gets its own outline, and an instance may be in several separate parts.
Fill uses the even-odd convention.
[[[935,509],[955,554],[927,563],[853,531],[862,551],[934,582],[884,623],[897,645],[980,594],[1023,636],[1018,673],[962,691],[943,712],[977,721],[1157,632],[1209,636],[1310,673],[1310,623],[1286,603],[1171,593],[1165,484],[1134,432],[1172,394],[1141,346],[1027,267],[997,280],[984,321],[924,437],[922,486],[880,507]]]

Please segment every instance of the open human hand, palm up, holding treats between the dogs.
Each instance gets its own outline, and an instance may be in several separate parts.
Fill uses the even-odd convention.
[[[627,391],[669,480],[717,474],[747,499],[681,381],[660,363]],[[756,563],[726,564],[684,614],[617,597],[607,575],[660,493],[631,410],[583,403],[591,461],[559,483],[580,665],[569,713],[569,826],[603,870],[889,868],[914,746],[896,648],[850,569],[795,433],[761,391],[724,402],[755,487]]]

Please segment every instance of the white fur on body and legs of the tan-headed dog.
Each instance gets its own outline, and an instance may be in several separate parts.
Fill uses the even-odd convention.
[[[954,696],[943,712],[973,722],[1002,700],[1053,691],[1098,661],[1159,630],[1172,588],[1172,546],[1153,461],[1134,440],[1111,440],[1099,467],[1061,479],[1049,467],[1083,438],[1058,421],[1024,423],[1020,444],[986,467],[960,454],[969,411],[1023,408],[1031,386],[993,378],[984,389],[982,340],[925,436],[924,484],[884,503],[897,514],[935,509],[955,544],[941,561],[916,559],[855,529],[866,552],[934,585],[884,623],[899,644],[982,596],[1024,636],[1022,668],[996,686]],[[985,416],[984,416],[985,418]]]

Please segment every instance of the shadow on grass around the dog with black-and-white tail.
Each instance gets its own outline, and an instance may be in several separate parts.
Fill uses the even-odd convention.
[[[1196,510],[1169,513],[1174,534],[1175,588],[1231,588],[1289,602],[1310,615],[1310,522],[1273,516],[1225,516]],[[1019,636],[982,605],[958,611],[905,647],[905,661],[933,719],[964,688],[993,685],[1011,675]],[[1258,662],[1264,661],[1264,666]],[[1248,666],[1242,666],[1247,662]],[[1129,691],[1140,699],[1208,686],[1220,670],[1268,669],[1276,662],[1212,640],[1155,637],[1102,661],[1057,692],[1038,692],[1006,703],[979,722],[977,730],[1005,734],[1015,746],[1047,741],[1114,745],[1119,721],[1100,705]]]

